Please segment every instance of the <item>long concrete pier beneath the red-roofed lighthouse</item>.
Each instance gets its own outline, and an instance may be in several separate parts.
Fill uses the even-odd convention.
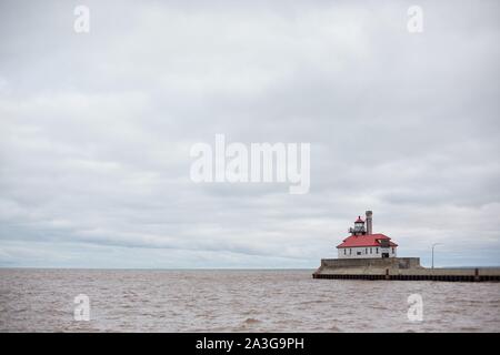
[[[323,258],[313,278],[414,280],[414,281],[500,281],[500,267],[427,268],[419,257]]]

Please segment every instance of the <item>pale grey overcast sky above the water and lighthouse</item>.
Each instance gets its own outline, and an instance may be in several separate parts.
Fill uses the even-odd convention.
[[[499,265],[499,13],[2,0],[0,266],[316,267],[366,210],[399,256]],[[217,133],[310,143],[310,192],[193,183]]]

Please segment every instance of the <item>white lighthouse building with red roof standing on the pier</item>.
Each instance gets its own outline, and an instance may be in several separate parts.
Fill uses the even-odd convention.
[[[373,234],[371,211],[367,211],[367,219],[361,216],[354,221],[354,227],[349,229],[350,236],[337,245],[339,258],[380,258],[396,257],[398,244],[383,234]]]

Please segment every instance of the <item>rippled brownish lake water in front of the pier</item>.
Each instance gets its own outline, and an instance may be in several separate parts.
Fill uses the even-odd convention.
[[[312,280],[312,271],[0,270],[2,332],[499,332],[500,283]],[[420,294],[423,320],[410,322]],[[74,296],[90,321],[73,318]]]

